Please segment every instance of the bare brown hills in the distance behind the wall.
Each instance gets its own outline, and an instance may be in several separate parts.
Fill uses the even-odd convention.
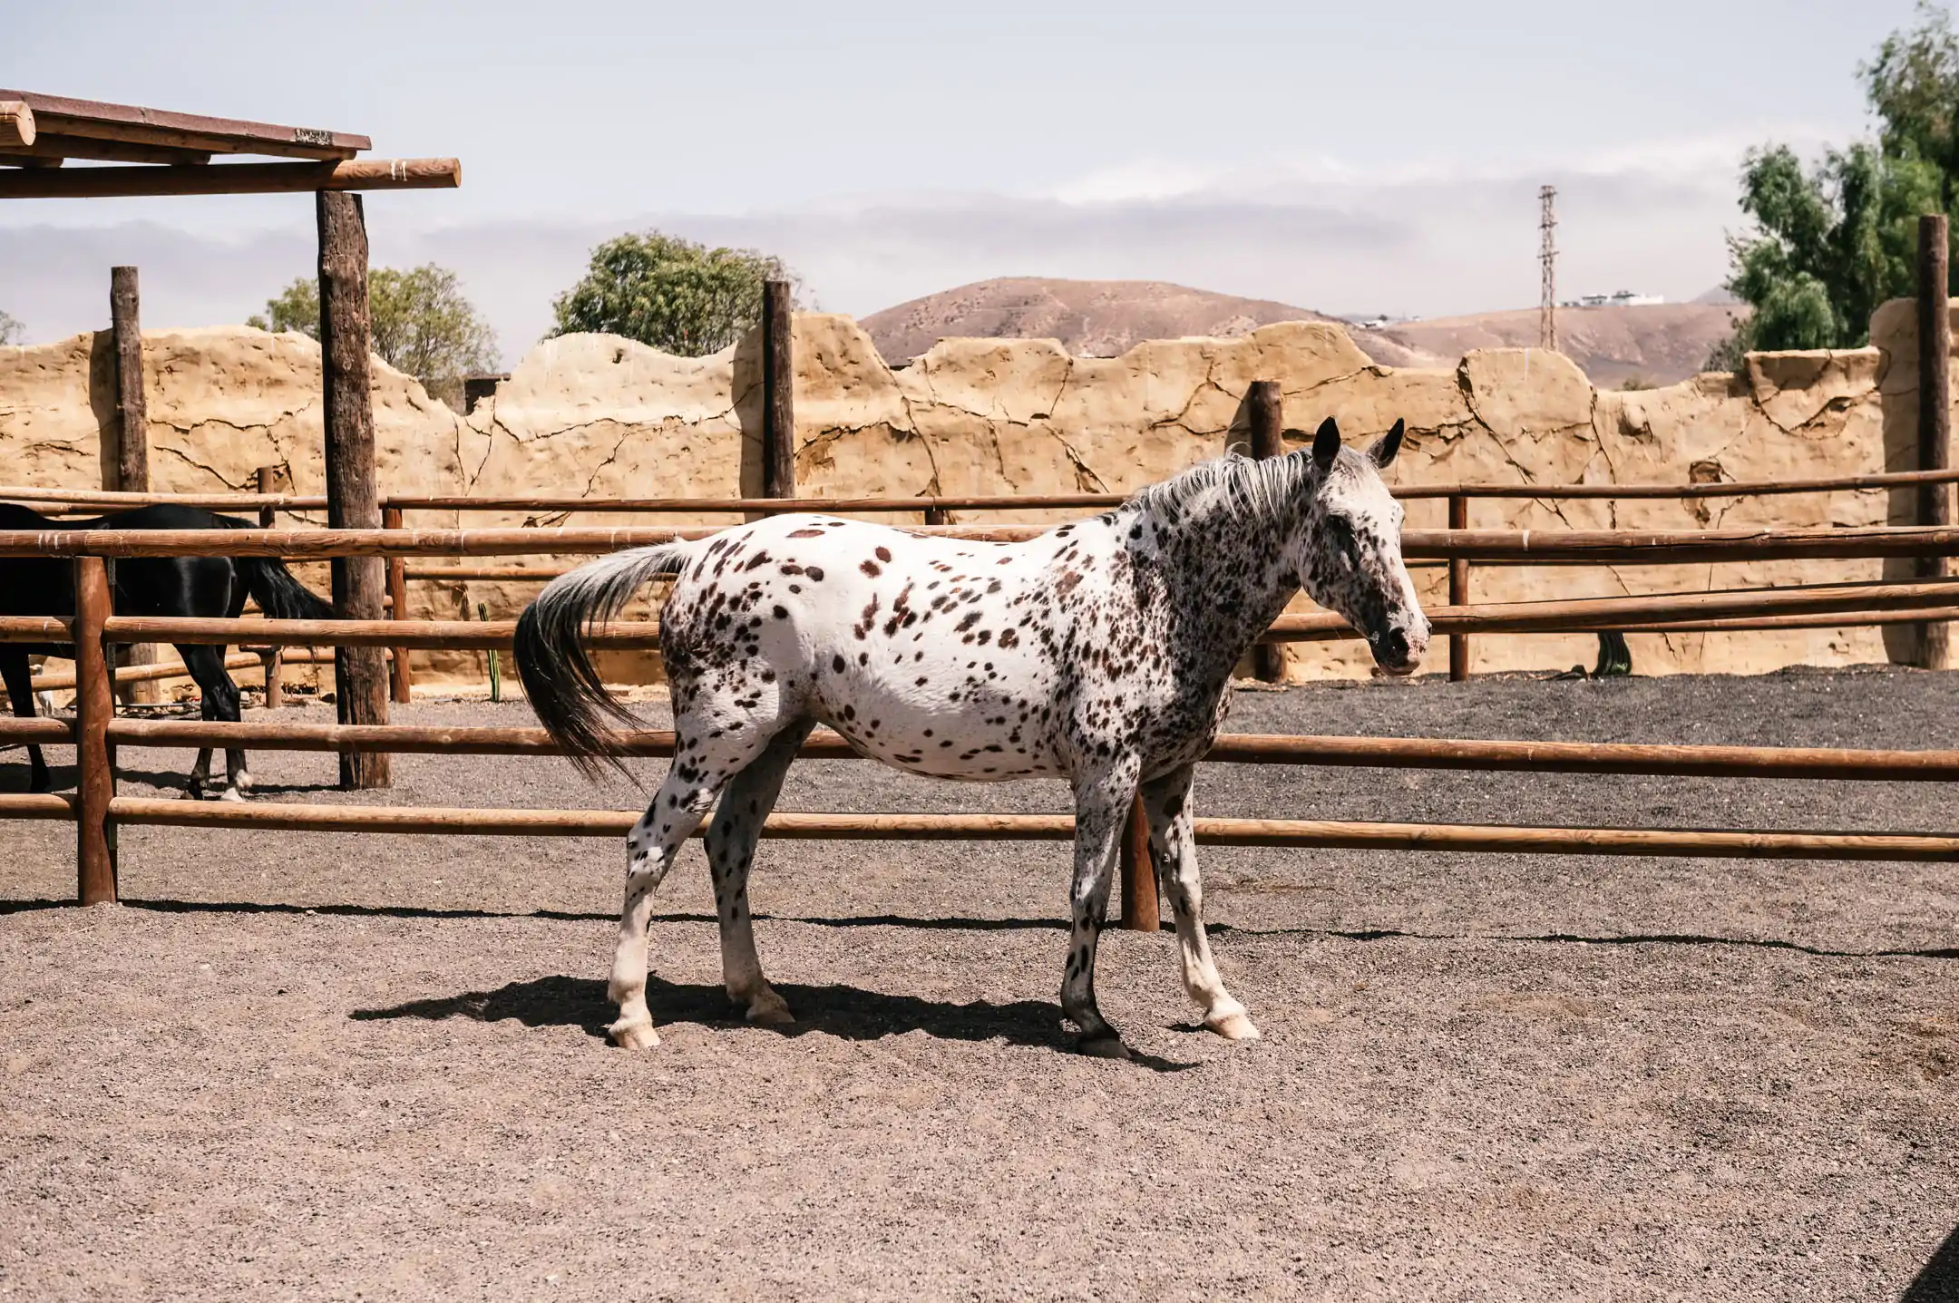
[[[1673,384],[1700,370],[1732,329],[1726,304],[1559,308],[1559,351],[1601,388],[1626,380]],[[905,362],[940,339],[1058,339],[1077,357],[1117,357],[1144,339],[1246,335],[1275,321],[1334,321],[1322,312],[1264,298],[1213,294],[1162,280],[1054,280],[1003,276],[927,294],[862,317],[878,351]],[[1383,366],[1450,366],[1469,349],[1538,343],[1538,310],[1352,327],[1354,343]]]

